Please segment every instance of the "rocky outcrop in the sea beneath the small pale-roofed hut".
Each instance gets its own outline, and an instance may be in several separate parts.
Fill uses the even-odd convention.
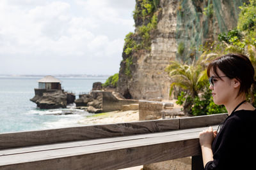
[[[67,107],[67,94],[62,90],[55,90],[54,92],[44,92],[42,96],[36,95],[30,99],[40,109],[54,109]]]

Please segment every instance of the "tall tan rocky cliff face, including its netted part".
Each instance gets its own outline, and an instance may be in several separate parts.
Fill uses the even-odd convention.
[[[218,38],[220,32],[236,26],[239,6],[244,1],[147,0],[147,2],[157,6],[154,8],[157,25],[149,31],[150,47],[133,49],[128,53],[126,50],[128,45],[125,44],[117,90],[132,99],[156,97],[168,99],[171,80],[164,69],[170,60],[189,62],[198,57],[200,45],[211,43]],[[144,8],[145,1],[136,0],[136,9]],[[148,8],[144,10],[148,11]],[[137,43],[145,38],[145,34],[141,36],[140,27],[147,25],[152,16],[148,15],[144,19],[134,17],[136,29],[131,38]]]

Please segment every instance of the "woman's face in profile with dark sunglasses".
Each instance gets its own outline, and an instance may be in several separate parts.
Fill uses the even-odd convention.
[[[210,77],[214,85],[210,85],[209,89],[212,90],[212,97],[215,104],[225,104],[228,103],[228,100],[233,99],[234,90],[232,90],[231,80],[228,78],[218,67],[217,74],[215,74],[212,70],[210,71]],[[221,78],[220,78],[221,77]]]

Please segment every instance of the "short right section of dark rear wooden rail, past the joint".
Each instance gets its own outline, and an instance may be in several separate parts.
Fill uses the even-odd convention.
[[[209,125],[217,125],[228,117],[227,113],[221,113],[216,115],[206,115],[199,117],[187,117],[180,118],[180,129],[188,129],[194,127],[206,127]]]

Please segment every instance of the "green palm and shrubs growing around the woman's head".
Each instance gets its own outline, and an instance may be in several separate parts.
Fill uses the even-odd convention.
[[[250,3],[244,3],[240,7],[237,27],[221,32],[218,35],[218,42],[205,43],[201,48],[202,55],[199,59],[191,64],[182,64],[173,62],[166,68],[172,78],[170,91],[173,86],[183,89],[178,96],[177,104],[183,104],[184,111],[192,115],[206,115],[213,113],[225,113],[224,106],[214,104],[207,83],[206,64],[212,59],[226,53],[238,52],[244,53],[252,61],[253,67],[256,68],[256,0],[250,0]],[[208,9],[205,9],[205,13]],[[178,46],[182,49],[183,45]],[[175,66],[175,67],[173,67]],[[199,75],[204,76],[199,76]],[[200,83],[199,83],[200,82]],[[247,96],[247,100],[256,106],[256,87],[252,88]]]

